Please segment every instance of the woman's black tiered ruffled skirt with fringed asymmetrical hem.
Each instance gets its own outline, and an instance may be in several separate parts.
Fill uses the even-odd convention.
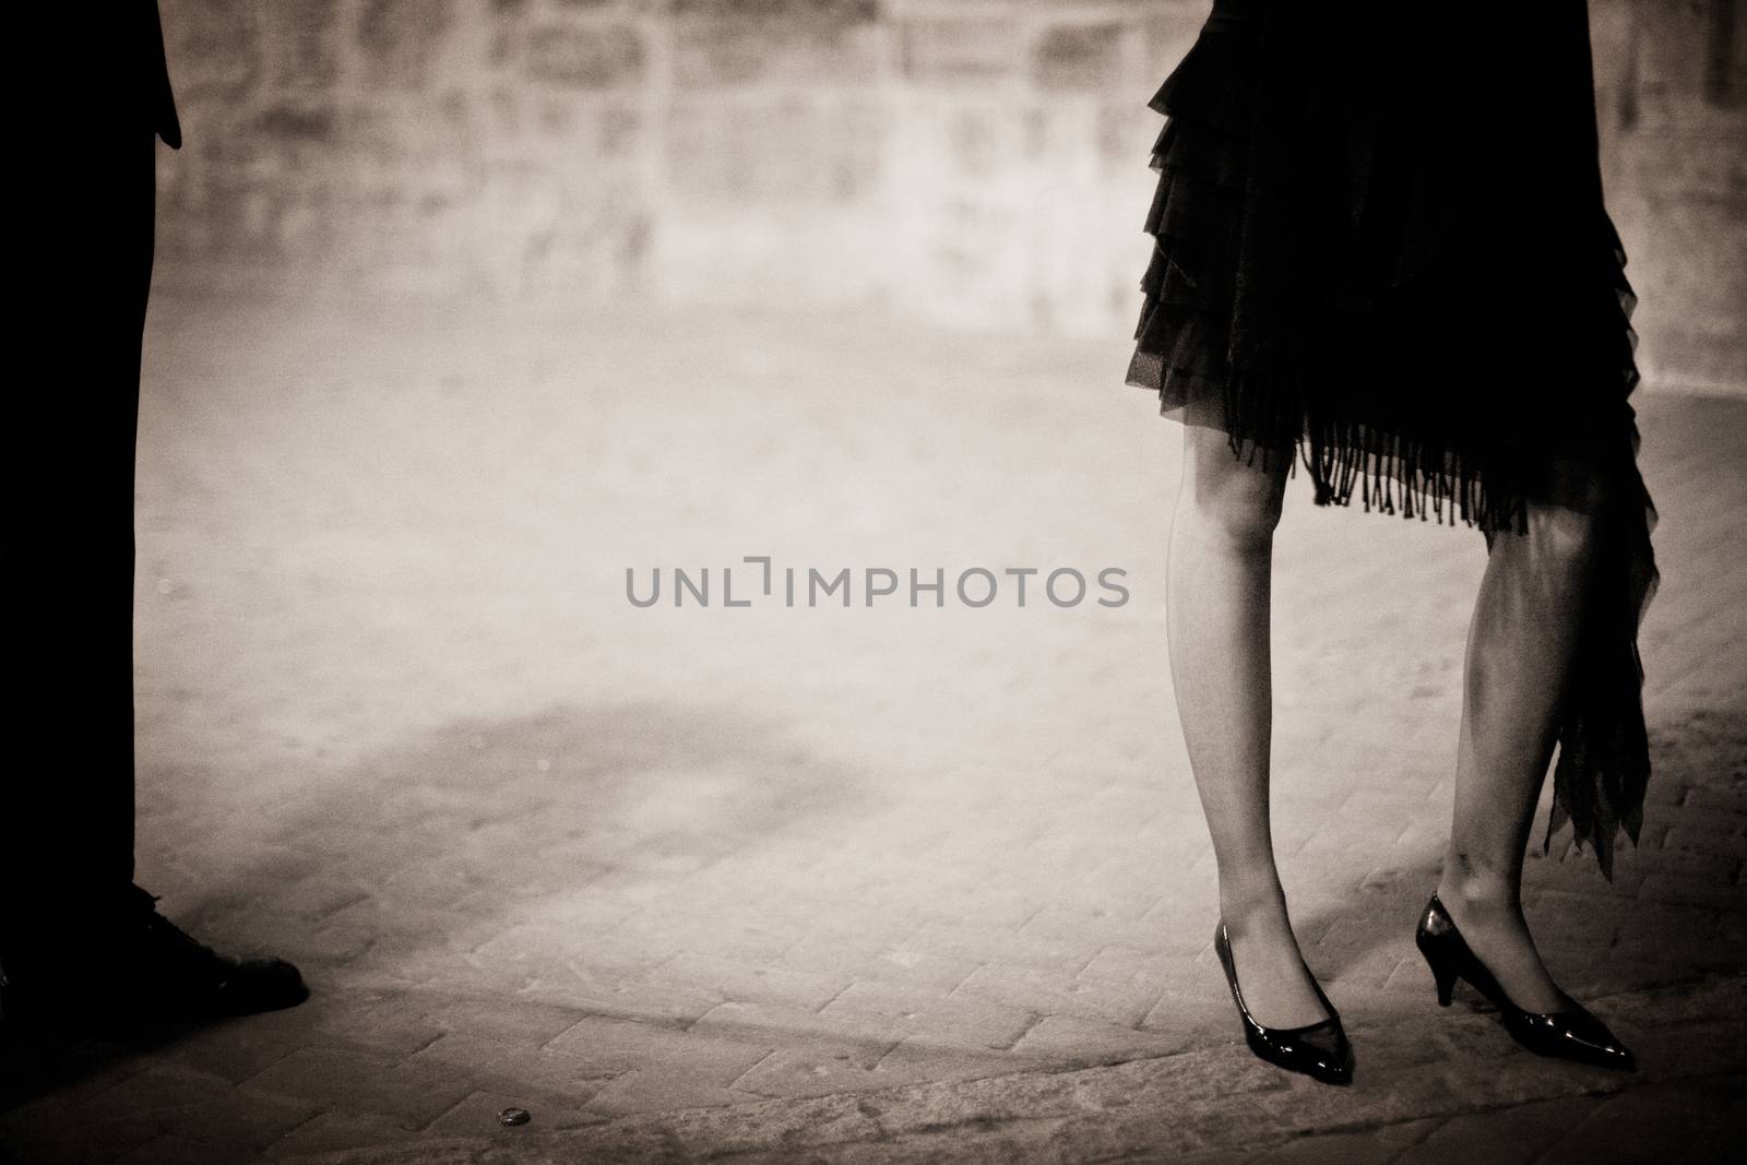
[[[1448,514],[1488,547],[1536,503],[1597,515],[1544,845],[1569,821],[1611,879],[1649,781],[1658,571],[1588,12],[1433,7],[1214,3],[1150,101],[1167,121],[1127,381],[1179,419],[1221,400],[1233,454],[1296,451],[1317,505]]]

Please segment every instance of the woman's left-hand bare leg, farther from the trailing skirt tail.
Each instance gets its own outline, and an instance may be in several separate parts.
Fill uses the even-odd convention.
[[[1328,1018],[1293,938],[1268,831],[1268,580],[1289,452],[1232,454],[1218,400],[1184,417],[1165,624],[1190,767],[1219,865],[1244,1001],[1265,1027]],[[1247,459],[1247,458],[1246,458]]]

